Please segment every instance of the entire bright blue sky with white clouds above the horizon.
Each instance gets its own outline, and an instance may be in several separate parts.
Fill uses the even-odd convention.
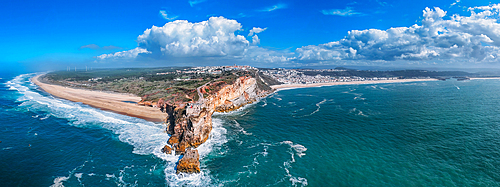
[[[0,63],[499,68],[499,11],[482,0],[6,0]]]

